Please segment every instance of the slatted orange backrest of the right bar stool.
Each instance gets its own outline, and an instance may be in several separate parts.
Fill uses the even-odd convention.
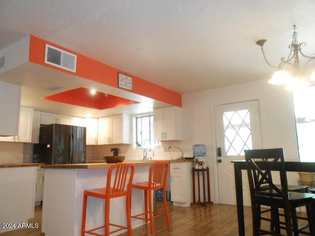
[[[167,184],[167,177],[169,171],[169,164],[167,161],[155,161],[151,164],[149,170],[149,184],[151,187],[165,186]]]

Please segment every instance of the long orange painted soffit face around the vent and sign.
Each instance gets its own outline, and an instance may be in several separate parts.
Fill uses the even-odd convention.
[[[76,73],[44,63],[46,43],[54,47],[60,48],[66,52],[77,55]],[[33,35],[31,35],[29,60],[36,64],[51,67],[53,69],[60,70],[65,73],[73,74],[82,78],[86,78],[86,79],[93,80],[93,81],[96,81],[105,85],[109,85],[115,88],[118,88],[118,73],[125,74],[124,71],[121,71],[119,69],[106,65],[94,59],[85,57],[81,54],[78,54],[76,52],[63,48],[54,43],[45,41]],[[169,89],[165,89],[161,86],[145,81],[139,77],[136,77],[130,74],[127,74],[127,75],[132,77],[132,82],[133,82],[132,92],[133,93],[150,97],[152,99],[165,102],[170,105],[182,107],[182,94],[174,92]]]

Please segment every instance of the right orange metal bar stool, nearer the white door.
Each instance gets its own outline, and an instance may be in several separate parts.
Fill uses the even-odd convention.
[[[132,188],[144,190],[144,208],[145,212],[131,216],[131,218],[144,220],[145,223],[150,222],[151,235],[154,236],[153,221],[155,218],[165,215],[167,227],[170,230],[171,223],[169,220],[167,201],[166,201],[166,184],[169,171],[167,161],[155,161],[151,164],[149,170],[149,180],[145,182],[133,183]],[[152,191],[162,189],[164,213],[154,212],[152,207]]]

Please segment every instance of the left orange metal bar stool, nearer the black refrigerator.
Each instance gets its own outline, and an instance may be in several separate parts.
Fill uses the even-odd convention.
[[[96,236],[109,236],[110,234],[116,233],[124,229],[128,230],[129,236],[132,236],[130,203],[131,203],[131,183],[132,183],[133,175],[134,175],[133,164],[115,163],[108,169],[106,187],[95,188],[95,189],[84,191],[81,236],[85,236],[85,234],[96,235]],[[105,201],[104,225],[96,227],[91,230],[85,229],[88,196],[104,199]],[[127,226],[121,226],[121,225],[117,225],[117,224],[113,224],[109,222],[110,199],[123,197],[123,196],[126,196]],[[109,226],[113,226],[115,227],[115,229],[110,231]],[[95,233],[95,231],[103,229],[103,228],[104,228],[104,234]]]

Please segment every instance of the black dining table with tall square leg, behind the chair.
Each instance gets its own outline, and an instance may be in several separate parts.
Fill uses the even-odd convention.
[[[234,163],[238,232],[239,236],[245,236],[242,170],[247,170],[247,167],[245,160],[232,161],[232,163]],[[266,164],[264,161],[256,163],[259,167]],[[287,172],[315,172],[315,162],[285,161],[284,166]],[[275,170],[279,169],[280,163],[275,165]]]

